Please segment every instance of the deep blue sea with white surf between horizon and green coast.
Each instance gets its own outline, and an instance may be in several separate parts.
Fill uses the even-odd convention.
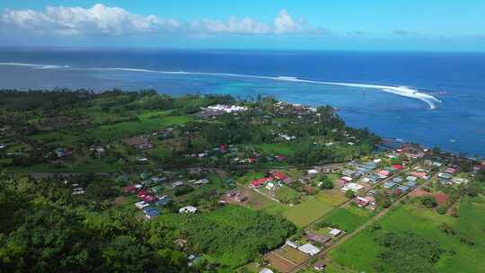
[[[483,53],[0,49],[0,88],[271,95],[471,156],[485,156],[484,81]]]

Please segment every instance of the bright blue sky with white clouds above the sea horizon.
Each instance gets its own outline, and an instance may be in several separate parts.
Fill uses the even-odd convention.
[[[485,51],[483,0],[0,0],[0,47]]]

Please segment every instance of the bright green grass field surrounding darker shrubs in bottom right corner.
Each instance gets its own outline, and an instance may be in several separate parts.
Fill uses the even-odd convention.
[[[452,225],[458,234],[472,235],[474,245],[460,242],[460,235],[448,235],[439,225]],[[436,212],[403,205],[379,220],[382,230],[358,233],[339,248],[331,251],[331,259],[350,269],[375,272],[380,246],[375,237],[384,232],[412,232],[435,240],[445,251],[434,266],[436,272],[485,272],[485,198],[463,198],[459,217],[438,215]]]

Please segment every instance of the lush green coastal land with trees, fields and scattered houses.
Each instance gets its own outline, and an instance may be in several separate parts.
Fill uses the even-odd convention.
[[[2,272],[485,270],[478,158],[271,97],[0,92]]]

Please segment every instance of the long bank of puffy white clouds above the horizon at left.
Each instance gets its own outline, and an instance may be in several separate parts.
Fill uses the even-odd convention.
[[[48,6],[45,11],[9,10],[0,14],[0,22],[7,30],[27,30],[57,35],[129,35],[139,33],[181,33],[191,35],[215,34],[304,34],[322,33],[303,20],[293,19],[281,10],[274,22],[260,22],[252,18],[226,21],[203,19],[179,22],[154,15],[129,13],[119,7],[94,4],[92,8]]]

